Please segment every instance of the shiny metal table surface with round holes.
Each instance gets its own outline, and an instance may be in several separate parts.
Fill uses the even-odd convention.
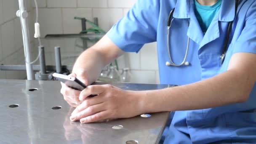
[[[98,83],[101,84],[101,83]],[[172,85],[113,84],[126,90],[152,90]],[[29,91],[37,88],[37,91]],[[158,143],[170,112],[106,123],[71,122],[71,108],[58,81],[0,80],[0,143],[11,144],[139,144]],[[19,107],[11,108],[12,104]],[[61,109],[52,109],[60,106]],[[112,129],[122,125],[122,129]],[[128,143],[133,144],[133,143]]]

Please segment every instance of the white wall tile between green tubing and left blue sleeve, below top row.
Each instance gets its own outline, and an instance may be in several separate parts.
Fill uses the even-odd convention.
[[[98,17],[99,27],[108,31],[123,17],[121,8],[93,8],[93,17]]]

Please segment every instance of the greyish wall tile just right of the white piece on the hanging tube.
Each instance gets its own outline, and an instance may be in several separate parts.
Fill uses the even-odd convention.
[[[41,37],[47,34],[62,34],[61,8],[39,8],[38,21]],[[33,27],[32,27],[33,28]]]

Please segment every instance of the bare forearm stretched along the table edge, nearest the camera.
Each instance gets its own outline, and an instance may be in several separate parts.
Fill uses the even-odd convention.
[[[243,102],[253,88],[255,80],[235,70],[229,70],[197,83],[144,91],[141,97],[142,113],[206,109]],[[244,85],[241,87],[241,85]]]

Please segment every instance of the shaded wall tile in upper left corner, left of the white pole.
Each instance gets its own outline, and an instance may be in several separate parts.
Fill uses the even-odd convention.
[[[3,0],[3,21],[9,21],[16,16],[17,0]]]

